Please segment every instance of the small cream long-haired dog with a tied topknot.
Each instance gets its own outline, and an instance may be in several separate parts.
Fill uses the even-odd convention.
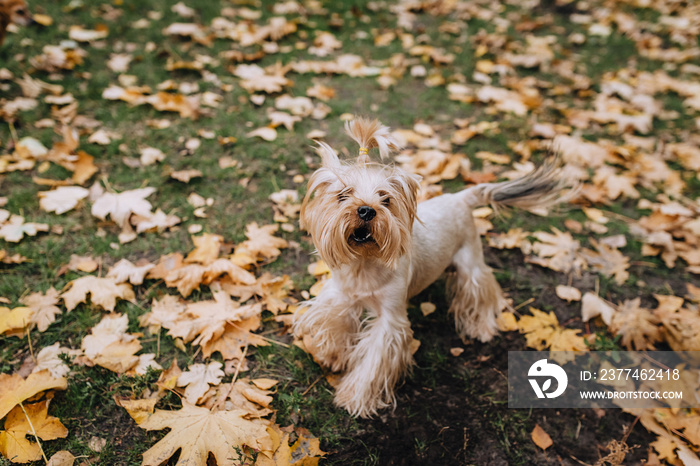
[[[323,165],[310,178],[301,226],[312,236],[331,278],[303,304],[294,323],[309,350],[333,371],[344,371],[335,403],[367,417],[395,404],[394,386],[413,363],[408,299],[448,266],[457,332],[489,341],[505,300],[484,262],[472,209],[521,208],[559,202],[567,183],[555,163],[502,183],[478,184],[417,203],[419,179],[397,167],[371,163],[398,149],[389,128],[355,119],[348,135],[360,145],[354,163],[341,162],[323,142]]]

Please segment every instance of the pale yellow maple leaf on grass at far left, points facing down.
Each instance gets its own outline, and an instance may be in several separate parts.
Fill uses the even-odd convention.
[[[117,299],[132,301],[135,299],[134,291],[128,283],[117,283],[112,278],[100,278],[86,276],[76,278],[68,282],[66,291],[61,294],[66,310],[75,309],[79,303],[87,302],[90,294],[92,303],[107,311],[114,311]]]

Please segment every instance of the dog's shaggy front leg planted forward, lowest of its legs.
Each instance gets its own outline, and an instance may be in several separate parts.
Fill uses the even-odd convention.
[[[335,403],[354,416],[368,417],[394,405],[394,387],[413,363],[405,293],[397,294],[368,306],[368,320],[336,390]]]

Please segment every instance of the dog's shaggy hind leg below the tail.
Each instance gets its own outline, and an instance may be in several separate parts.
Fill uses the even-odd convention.
[[[496,319],[505,307],[505,299],[491,268],[484,262],[481,241],[476,233],[474,236],[453,258],[456,270],[448,279],[450,313],[463,340],[478,338],[486,342],[498,333]]]

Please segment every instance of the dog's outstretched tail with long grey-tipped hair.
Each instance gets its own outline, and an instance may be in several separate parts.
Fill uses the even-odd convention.
[[[562,176],[561,159],[555,156],[522,178],[482,183],[462,193],[470,207],[489,205],[498,212],[503,207],[551,207],[570,200],[577,188],[577,183]]]

